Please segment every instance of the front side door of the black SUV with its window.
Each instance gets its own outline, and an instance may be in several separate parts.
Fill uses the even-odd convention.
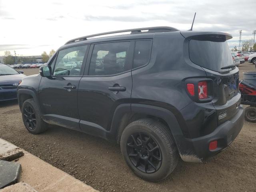
[[[88,45],[82,45],[60,50],[51,63],[52,77],[42,77],[39,101],[46,122],[80,130],[78,85],[88,48]]]

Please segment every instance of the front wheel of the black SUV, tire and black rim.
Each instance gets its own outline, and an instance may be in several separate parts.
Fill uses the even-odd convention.
[[[25,100],[21,111],[22,120],[28,132],[39,134],[48,129],[48,124],[42,120],[39,108],[34,99]]]

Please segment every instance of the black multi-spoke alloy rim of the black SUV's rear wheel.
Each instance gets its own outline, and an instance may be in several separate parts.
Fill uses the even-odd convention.
[[[135,132],[127,140],[127,154],[132,164],[144,173],[156,172],[162,164],[157,142],[145,132]]]

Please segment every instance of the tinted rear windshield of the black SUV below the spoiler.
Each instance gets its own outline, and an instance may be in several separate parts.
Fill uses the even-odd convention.
[[[226,41],[190,40],[189,57],[194,64],[217,72],[232,70],[221,68],[234,64]]]

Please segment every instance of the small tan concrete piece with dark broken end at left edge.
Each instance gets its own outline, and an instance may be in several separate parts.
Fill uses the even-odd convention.
[[[0,138],[0,160],[12,161],[23,155],[21,148]]]

